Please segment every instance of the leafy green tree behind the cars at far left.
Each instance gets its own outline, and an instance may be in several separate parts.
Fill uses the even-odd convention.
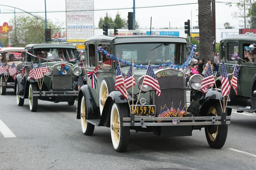
[[[15,20],[10,20],[11,25],[14,26]],[[47,27],[51,32],[58,32],[61,29],[60,23],[53,23],[47,20]],[[24,47],[31,43],[44,43],[45,42],[45,22],[39,20],[28,14],[16,16],[16,29],[10,32],[10,42],[15,47]]]

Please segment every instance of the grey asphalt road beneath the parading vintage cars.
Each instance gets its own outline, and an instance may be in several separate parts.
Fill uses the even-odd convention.
[[[131,131],[127,152],[117,153],[109,128],[82,133],[75,105],[38,101],[30,112],[11,89],[0,103],[0,170],[256,170],[255,113],[232,113],[221,149],[208,146],[204,129],[166,138]]]

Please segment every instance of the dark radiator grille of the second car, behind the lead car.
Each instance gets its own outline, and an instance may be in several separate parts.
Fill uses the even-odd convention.
[[[55,90],[72,89],[71,75],[52,76],[52,88]]]

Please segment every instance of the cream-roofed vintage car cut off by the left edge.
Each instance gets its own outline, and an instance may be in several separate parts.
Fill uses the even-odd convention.
[[[25,65],[24,47],[6,47],[0,49],[0,60],[2,68],[7,65],[6,71],[1,72],[0,93],[6,95],[6,88],[15,89],[15,77],[17,74],[10,76],[10,67],[15,66],[15,70],[20,71]],[[14,65],[13,65],[14,64]],[[13,70],[14,71],[14,70]],[[16,92],[16,90],[14,90]]]

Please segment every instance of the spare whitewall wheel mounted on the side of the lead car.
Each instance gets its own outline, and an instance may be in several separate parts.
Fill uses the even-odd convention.
[[[100,90],[99,90],[99,110],[102,115],[102,111],[105,105],[105,102],[108,98],[108,95],[114,91],[115,83],[111,77],[105,77],[102,80]]]

